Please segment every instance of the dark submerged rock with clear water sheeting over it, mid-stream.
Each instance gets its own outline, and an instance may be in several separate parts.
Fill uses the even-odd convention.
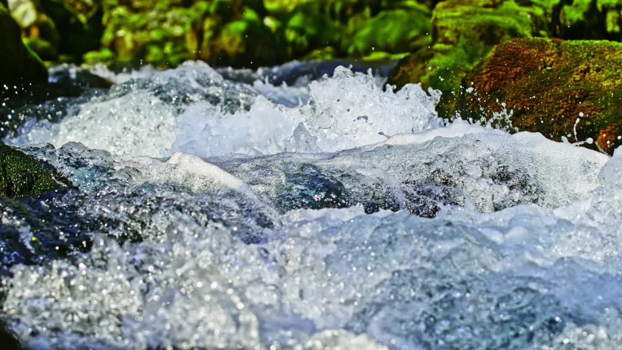
[[[242,179],[281,213],[360,204],[368,214],[404,210],[435,217],[443,206],[466,202],[481,212],[526,203],[550,206],[536,174],[508,159],[499,161],[498,150],[476,140],[455,144],[441,138],[429,147],[438,149],[434,156],[425,153],[430,148],[385,145],[373,151],[210,161]],[[472,158],[464,158],[467,149]]]

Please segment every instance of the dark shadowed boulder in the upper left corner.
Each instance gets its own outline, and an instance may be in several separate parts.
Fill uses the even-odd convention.
[[[21,29],[6,7],[0,4],[0,94],[3,85],[12,87],[29,82],[45,82],[47,69],[21,39]]]

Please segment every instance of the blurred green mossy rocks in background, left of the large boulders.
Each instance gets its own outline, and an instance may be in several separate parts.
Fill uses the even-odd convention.
[[[426,45],[432,1],[0,0],[47,61],[201,59],[260,67],[293,59],[399,57]]]

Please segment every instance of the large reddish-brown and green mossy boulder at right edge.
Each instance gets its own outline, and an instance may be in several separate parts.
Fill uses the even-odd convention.
[[[504,42],[463,78],[458,114],[481,120],[506,108],[519,131],[611,154],[622,144],[621,52],[606,40]]]

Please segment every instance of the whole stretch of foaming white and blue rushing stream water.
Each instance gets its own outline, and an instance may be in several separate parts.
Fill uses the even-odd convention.
[[[621,347],[620,152],[300,67],[100,71],[12,111],[79,188],[0,201],[27,348]]]

